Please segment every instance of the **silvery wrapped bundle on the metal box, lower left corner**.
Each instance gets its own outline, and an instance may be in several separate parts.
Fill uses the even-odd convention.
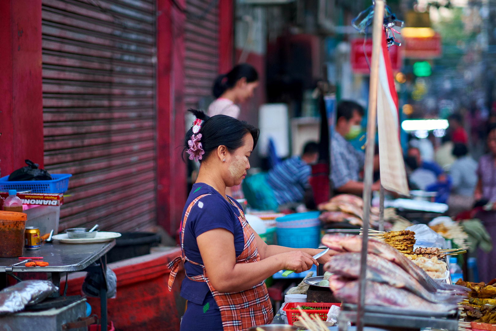
[[[15,313],[45,300],[59,288],[49,280],[21,281],[0,291],[0,314]]]

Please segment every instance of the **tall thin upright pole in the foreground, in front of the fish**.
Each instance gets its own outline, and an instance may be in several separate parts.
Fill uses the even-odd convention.
[[[379,76],[379,56],[382,43],[384,1],[375,0],[372,27],[372,63],[369,88],[369,116],[367,118],[367,148],[364,167],[364,234],[362,237],[362,258],[360,265],[359,300],[357,310],[357,331],[364,328],[365,292],[367,280],[367,243],[369,239],[369,216],[371,210],[371,188],[373,175],[373,156],[375,149],[375,117],[377,114],[377,83]]]

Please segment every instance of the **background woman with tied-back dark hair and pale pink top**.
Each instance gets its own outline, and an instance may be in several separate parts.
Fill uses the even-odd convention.
[[[243,63],[235,66],[226,74],[215,79],[213,94],[216,100],[208,106],[208,116],[227,115],[234,118],[240,116],[240,107],[253,96],[253,90],[258,86],[258,73],[255,68]]]

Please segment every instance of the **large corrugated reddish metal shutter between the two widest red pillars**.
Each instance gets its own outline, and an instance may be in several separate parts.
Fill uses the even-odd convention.
[[[45,168],[70,173],[59,230],[156,222],[155,3],[42,0]]]

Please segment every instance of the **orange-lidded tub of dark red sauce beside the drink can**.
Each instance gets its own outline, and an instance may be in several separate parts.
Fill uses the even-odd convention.
[[[22,256],[26,219],[23,212],[0,210],[0,258]]]

